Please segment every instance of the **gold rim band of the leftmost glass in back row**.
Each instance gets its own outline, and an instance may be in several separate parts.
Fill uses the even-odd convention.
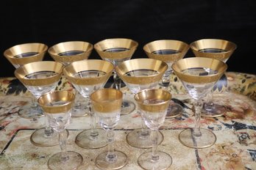
[[[30,62],[38,62],[43,60],[43,56],[46,54],[48,46],[43,43],[32,42],[20,45],[15,45],[4,51],[4,56],[13,65],[24,65]],[[16,57],[23,53],[35,53],[32,56]]]

